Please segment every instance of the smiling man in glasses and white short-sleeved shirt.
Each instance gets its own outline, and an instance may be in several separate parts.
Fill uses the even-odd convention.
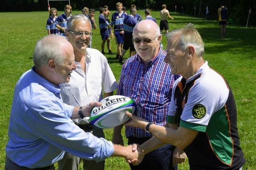
[[[69,83],[61,85],[60,94],[63,102],[72,106],[84,106],[91,101],[100,101],[102,90],[104,97],[113,95],[118,87],[116,79],[108,61],[100,51],[87,48],[90,43],[91,23],[83,15],[72,16],[67,23],[66,36],[74,48],[77,69],[72,72]],[[74,123],[86,132],[96,137],[104,137],[102,129],[94,128],[89,117],[73,119]],[[64,158],[58,162],[61,170],[78,170],[80,158],[65,153]],[[96,163],[94,160],[84,160],[84,169],[103,170],[104,161]]]

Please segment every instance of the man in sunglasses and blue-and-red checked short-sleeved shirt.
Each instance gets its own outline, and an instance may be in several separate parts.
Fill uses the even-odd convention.
[[[117,95],[127,96],[136,102],[135,115],[164,126],[172,85],[180,75],[171,74],[170,67],[164,63],[166,52],[160,48],[162,37],[157,23],[151,20],[140,21],[134,27],[132,35],[137,54],[123,64]],[[114,128],[113,143],[124,145],[122,127],[123,125]],[[152,137],[144,129],[125,128],[128,144],[142,144]],[[130,164],[130,167],[132,170],[174,170],[177,169],[175,164],[184,162],[185,158],[183,150],[178,150],[173,145],[164,145],[146,154],[138,166]]]

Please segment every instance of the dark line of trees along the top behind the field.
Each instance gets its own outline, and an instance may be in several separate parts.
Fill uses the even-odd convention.
[[[228,8],[228,17],[234,23],[246,25],[250,10],[249,24],[256,27],[256,1],[255,0],[70,0],[73,10],[82,10],[84,6],[88,8],[98,8],[108,5],[110,10],[116,10],[116,2],[122,2],[123,6],[129,9],[131,4],[135,4],[139,10],[150,8],[151,10],[161,10],[161,5],[166,4],[170,12],[180,12],[198,18],[206,18],[206,7],[209,13],[207,19],[217,20],[217,10],[220,4]],[[63,10],[68,1],[50,1],[50,6]],[[47,0],[3,0],[0,6],[1,12],[10,11],[44,11],[47,10]],[[176,8],[175,8],[176,6]]]

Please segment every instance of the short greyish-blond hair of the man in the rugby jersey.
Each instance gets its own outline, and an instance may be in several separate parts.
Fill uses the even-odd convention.
[[[204,41],[194,24],[188,23],[184,28],[174,29],[168,32],[166,36],[168,40],[178,36],[176,44],[179,45],[182,51],[185,51],[188,46],[192,46],[195,48],[198,57],[203,57]]]

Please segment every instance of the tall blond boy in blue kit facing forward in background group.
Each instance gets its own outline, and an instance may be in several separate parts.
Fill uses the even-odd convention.
[[[111,19],[111,38],[116,37],[117,54],[116,59],[119,59],[122,55],[121,46],[124,43],[124,18],[126,14],[122,12],[123,4],[121,2],[116,3],[117,12],[112,15]],[[112,28],[114,27],[114,34]]]

